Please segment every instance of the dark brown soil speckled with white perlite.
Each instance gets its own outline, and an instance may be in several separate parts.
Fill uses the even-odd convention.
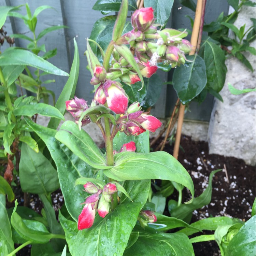
[[[172,154],[173,145],[167,144],[165,151]],[[190,137],[182,136],[178,160],[192,177],[196,197],[207,187],[211,171],[223,169],[213,177],[211,203],[194,211],[191,222],[211,216],[236,217],[247,221],[251,217],[252,204],[255,198],[255,167],[246,165],[242,159],[216,154],[209,155],[208,151],[207,142],[195,142]],[[175,197],[175,194],[173,196]],[[183,202],[189,199],[190,193],[184,189]],[[63,204],[60,190],[52,194],[52,200],[57,216],[58,209]],[[23,201],[21,197],[19,203],[22,204]],[[41,213],[42,203],[37,195],[30,195],[30,207]],[[215,241],[194,243],[193,246],[196,256],[220,255]],[[30,255],[30,246],[23,248],[16,254],[16,256],[28,255]]]

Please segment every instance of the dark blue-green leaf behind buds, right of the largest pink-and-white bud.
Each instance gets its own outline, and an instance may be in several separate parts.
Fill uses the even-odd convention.
[[[144,108],[149,108],[154,106],[161,94],[162,91],[162,81],[159,75],[154,74],[150,79],[144,79],[146,87],[146,96],[141,102],[140,105],[143,105]]]

